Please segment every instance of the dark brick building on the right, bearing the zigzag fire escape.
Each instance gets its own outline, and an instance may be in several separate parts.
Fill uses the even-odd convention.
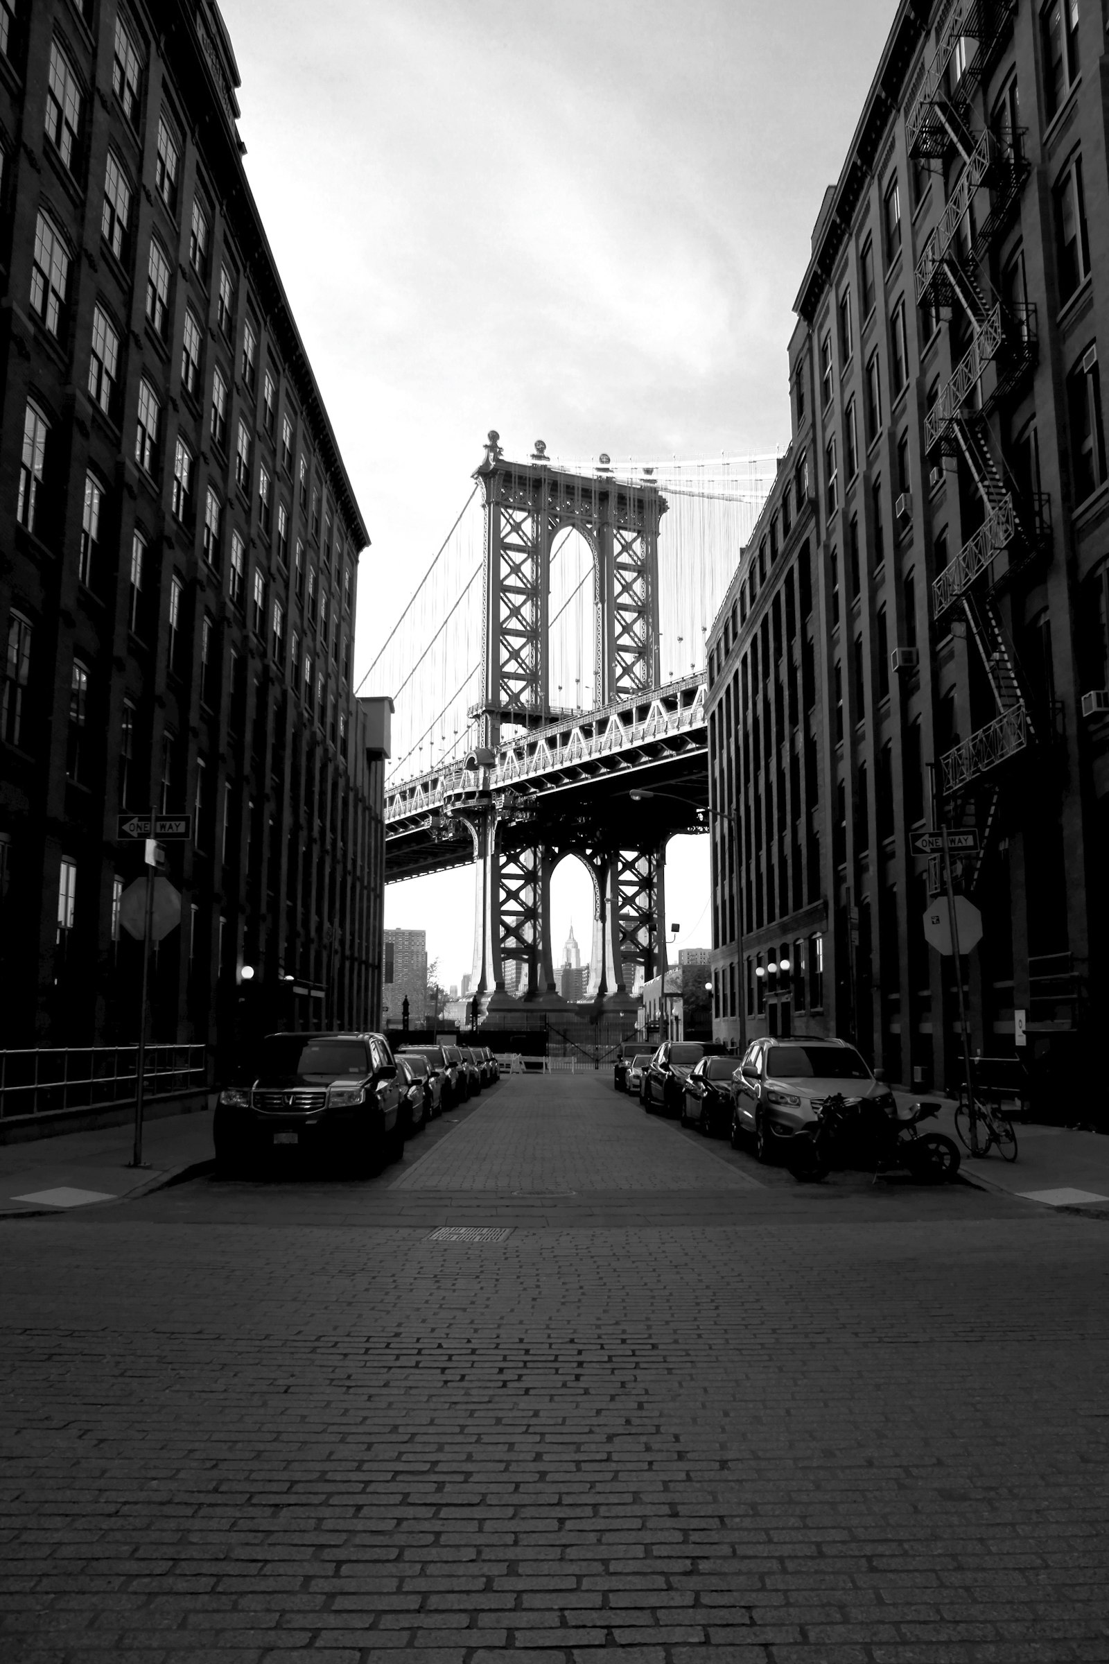
[[[803,1022],[951,1082],[919,847],[946,825],[978,839],[953,872],[983,924],[971,1048],[1081,1072],[1106,1002],[1102,78],[1087,0],[898,7],[813,230],[790,456],[710,634],[722,1033]]]

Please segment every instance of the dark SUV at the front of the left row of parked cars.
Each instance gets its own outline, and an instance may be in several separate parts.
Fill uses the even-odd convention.
[[[372,1171],[404,1153],[404,1082],[384,1035],[266,1035],[231,1075],[213,1122],[223,1171],[314,1153]]]

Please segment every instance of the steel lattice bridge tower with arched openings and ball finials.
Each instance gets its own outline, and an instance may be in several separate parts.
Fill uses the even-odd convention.
[[[565,527],[594,556],[594,686],[599,704],[658,686],[658,526],[667,511],[645,478],[617,481],[602,456],[597,474],[554,468],[542,439],[529,463],[504,458],[490,433],[474,478],[485,514],[482,699],[474,762],[492,769],[504,730],[559,721],[550,706],[550,551]],[[665,970],[663,849],[597,849],[537,840],[527,815],[490,797],[464,819],[474,837],[477,919],[472,992],[482,1012],[505,1010],[514,993],[560,1007],[550,947],[550,874],[564,854],[580,855],[594,879],[590,995],[627,1003],[625,963],[647,977]]]

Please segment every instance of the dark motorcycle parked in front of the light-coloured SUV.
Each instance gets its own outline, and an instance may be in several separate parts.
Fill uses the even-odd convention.
[[[803,1183],[826,1178],[831,1166],[873,1166],[875,1178],[904,1168],[923,1185],[943,1185],[959,1171],[961,1158],[953,1138],[919,1132],[938,1110],[938,1103],[911,1103],[890,1112],[835,1092],[816,1107],[816,1123],[788,1140],[786,1166]]]

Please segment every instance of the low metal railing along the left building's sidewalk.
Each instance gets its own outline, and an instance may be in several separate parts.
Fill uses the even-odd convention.
[[[33,1047],[0,1052],[0,1122],[25,1115],[133,1103],[138,1047]],[[208,1047],[148,1045],[145,1097],[168,1098],[208,1087]]]

